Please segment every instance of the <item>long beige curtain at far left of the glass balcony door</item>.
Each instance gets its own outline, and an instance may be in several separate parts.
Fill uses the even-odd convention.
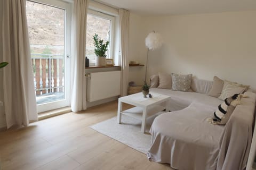
[[[34,77],[30,58],[26,0],[1,1],[1,45],[4,107],[7,128],[37,121]]]

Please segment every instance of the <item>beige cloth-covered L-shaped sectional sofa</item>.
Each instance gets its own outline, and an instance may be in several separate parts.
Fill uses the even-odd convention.
[[[226,125],[207,122],[223,100],[212,97],[213,81],[192,79],[191,89],[151,88],[150,92],[169,95],[166,112],[155,118],[150,133],[148,158],[169,163],[175,169],[245,169],[252,142],[256,94],[236,106]],[[159,84],[157,85],[159,86]],[[156,87],[156,84],[155,84]]]

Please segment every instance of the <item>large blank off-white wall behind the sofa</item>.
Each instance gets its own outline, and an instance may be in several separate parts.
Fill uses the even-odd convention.
[[[142,19],[145,32],[155,30],[165,41],[161,49],[149,52],[149,75],[193,73],[206,80],[217,75],[256,89],[255,18],[256,11],[241,11]],[[133,46],[143,43],[132,40]]]

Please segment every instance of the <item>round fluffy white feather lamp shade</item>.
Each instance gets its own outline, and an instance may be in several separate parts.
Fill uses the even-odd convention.
[[[153,31],[149,33],[145,39],[145,43],[149,50],[155,50],[163,45],[163,38],[159,33]]]

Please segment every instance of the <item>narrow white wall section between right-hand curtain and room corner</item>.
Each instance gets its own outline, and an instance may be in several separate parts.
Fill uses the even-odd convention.
[[[145,18],[130,13],[129,28],[129,62],[138,61],[145,64],[146,46]],[[145,79],[145,67],[129,67],[129,82],[134,81],[137,85],[143,84]]]

